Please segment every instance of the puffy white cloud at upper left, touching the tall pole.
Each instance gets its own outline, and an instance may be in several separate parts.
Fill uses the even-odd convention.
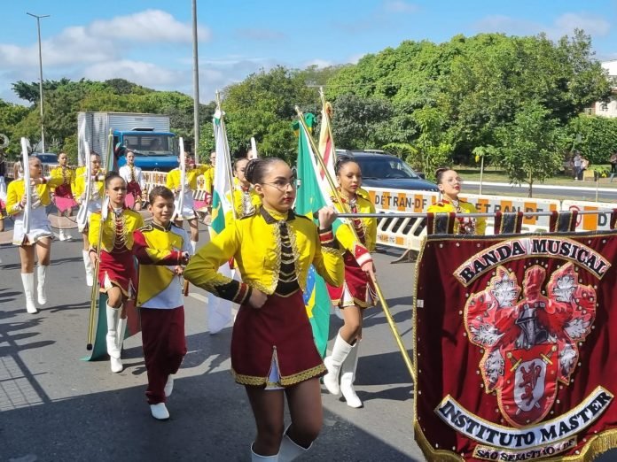
[[[177,21],[168,12],[146,10],[128,16],[94,21],[90,33],[114,40],[129,39],[137,42],[192,42],[192,26]],[[210,40],[212,34],[206,27],[198,27],[199,41]]]

